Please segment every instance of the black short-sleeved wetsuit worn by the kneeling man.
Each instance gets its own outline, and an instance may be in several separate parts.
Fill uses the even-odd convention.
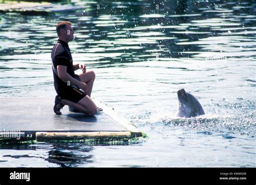
[[[51,59],[52,65],[55,68],[55,70],[52,69],[52,71],[56,93],[61,98],[65,98],[77,103],[80,101],[80,99],[86,96],[86,94],[84,94],[78,88],[70,86],[72,84],[62,81],[56,74],[58,65],[66,66],[66,72],[73,78],[80,81],[79,76],[74,72],[73,59],[68,43],[58,40],[55,46],[52,48]]]

